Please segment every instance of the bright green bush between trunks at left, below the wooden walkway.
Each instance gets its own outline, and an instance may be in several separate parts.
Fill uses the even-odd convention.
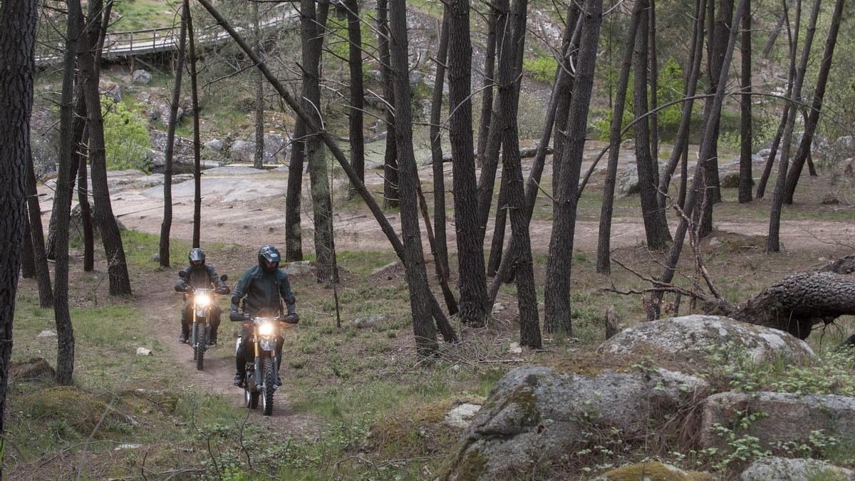
[[[151,148],[151,138],[145,119],[139,115],[136,106],[103,97],[101,115],[107,169],[147,170],[146,154]]]

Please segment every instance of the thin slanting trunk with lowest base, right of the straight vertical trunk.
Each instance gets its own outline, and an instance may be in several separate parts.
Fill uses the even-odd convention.
[[[814,11],[811,13],[811,23],[816,22],[815,15],[818,15],[819,4],[814,4]],[[791,99],[801,98],[802,81],[805,80],[805,72],[799,64],[796,67],[796,56],[799,52],[799,27],[801,25],[801,0],[796,1],[796,23],[793,26],[793,33],[790,38],[790,78],[793,80],[792,94],[787,96]],[[805,51],[802,55],[802,62],[807,63],[807,57],[811,53],[811,40],[813,35],[808,29],[808,37],[805,38]],[[794,73],[794,76],[793,76]],[[795,128],[796,116],[798,109],[794,102],[787,102],[789,105],[789,116],[787,116],[787,126],[784,128],[784,136],[781,138],[781,160],[778,162],[778,176],[775,179],[775,191],[772,194],[772,205],[769,209],[769,235],[766,237],[766,252],[779,252],[781,250],[781,207],[784,200],[784,187],[787,183],[787,169],[789,169],[790,149],[793,145],[793,128]]]

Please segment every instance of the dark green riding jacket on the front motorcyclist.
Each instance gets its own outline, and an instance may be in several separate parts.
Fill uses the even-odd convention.
[[[252,316],[262,312],[267,315],[279,314],[280,299],[285,300],[288,312],[297,310],[288,275],[280,269],[268,272],[258,265],[247,269],[232,291],[232,312],[238,312],[238,303],[244,297],[244,312]]]

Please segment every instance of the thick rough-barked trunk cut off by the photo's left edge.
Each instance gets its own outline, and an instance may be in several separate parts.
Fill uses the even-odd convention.
[[[27,235],[27,158],[30,149],[32,76],[35,71],[38,3],[6,2],[0,9],[0,454],[6,448],[5,413],[12,356],[15,293],[21,268],[21,241]],[[0,475],[3,474],[0,459]]]

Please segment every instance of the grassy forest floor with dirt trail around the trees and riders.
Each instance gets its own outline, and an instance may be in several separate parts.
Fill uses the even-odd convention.
[[[446,167],[448,171],[450,165]],[[429,168],[420,173],[429,192]],[[769,200],[739,205],[734,189],[724,189],[725,202],[716,205],[717,241],[703,241],[700,248],[726,299],[746,300],[790,272],[814,269],[828,258],[852,253],[855,207],[849,199],[855,199],[855,192],[840,183],[833,185],[830,175],[822,174],[805,177],[797,204],[785,209],[781,239],[786,251],[776,254],[764,252]],[[282,244],[284,202],[266,193],[282,192],[279,183],[284,184],[285,175],[205,176],[203,186],[212,190],[203,206],[203,248],[209,264],[230,277],[230,285],[256,263],[258,245]],[[378,190],[377,171],[370,171],[368,178],[371,189]],[[317,284],[310,273],[292,276],[302,322],[286,332],[282,366],[286,383],[277,392],[274,415],[263,418],[245,410],[242,391],[231,385],[237,327],[225,316],[221,343],[209,352],[204,371],[195,371],[190,347],[176,342],[180,296],[172,285],[189,248],[188,198],[177,196],[174,268],[163,270],[152,259],[162,209],[156,191],[162,187],[145,187],[140,182],[151,178],[133,181],[129,175],[114,175],[114,181],[114,209],[130,229],[124,241],[134,295],[109,298],[103,258],[98,258],[94,273],[82,272],[79,241],[73,243],[75,384],[68,388],[71,392],[50,382],[11,383],[6,455],[9,474],[15,478],[71,478],[77,472],[84,478],[227,477],[239,469],[281,478],[431,478],[459,436],[459,431],[438,428],[435,422],[450,407],[482,399],[516,365],[596,347],[604,336],[603,313],[608,306],[616,307],[623,325],[644,318],[640,298],[603,291],[612,284],[641,288],[642,281],[622,270],[610,276],[595,273],[601,198],[601,179],[595,177],[582,197],[576,229],[573,337],[546,339],[543,352],[516,352],[512,346],[518,341],[516,288],[505,285],[497,299],[501,307],[493,312],[488,328],[472,330],[452,319],[463,344],[444,345],[433,362],[420,361],[413,353],[404,271],[399,264],[377,271],[397,259],[362,202],[344,200],[345,187],[338,181],[336,235],[342,279],[335,294],[341,327],[336,326],[333,288]],[[548,182],[547,172],[545,185]],[[190,186],[188,181],[175,188],[184,192],[181,189]],[[244,194],[254,195],[253,189],[260,195],[241,200]],[[821,203],[829,192],[836,193],[840,204]],[[235,194],[233,200],[226,199],[230,193]],[[308,205],[308,199],[304,202]],[[452,204],[451,199],[447,202]],[[532,231],[542,300],[549,200],[541,197],[538,205]],[[43,210],[50,211],[48,202],[43,201]],[[313,250],[308,217],[304,213],[305,252]],[[397,213],[390,212],[389,217],[397,220]],[[456,267],[453,233],[450,223],[451,265]],[[614,258],[640,272],[658,273],[662,253],[649,252],[643,245],[637,196],[618,201],[613,233]],[[100,250],[97,254],[103,256]],[[433,270],[432,264],[428,270]],[[679,282],[691,282],[691,259],[682,265],[682,272],[687,278]],[[431,279],[439,295],[439,286]],[[452,278],[452,286],[455,281]],[[221,299],[220,306],[226,310],[227,300]],[[680,313],[687,312],[684,303]],[[373,327],[359,329],[353,322],[373,314],[382,316]],[[34,283],[23,280],[13,361],[44,357],[52,362],[56,338],[38,337],[51,329],[52,312],[38,308]],[[853,331],[855,319],[841,318],[837,326],[815,333],[809,342],[822,351]],[[137,347],[152,353],[138,356]]]

